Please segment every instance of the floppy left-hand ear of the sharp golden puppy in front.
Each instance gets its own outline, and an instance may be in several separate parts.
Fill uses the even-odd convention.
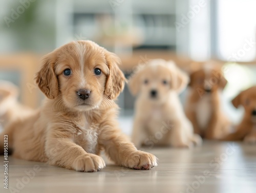
[[[55,65],[54,51],[44,56],[41,60],[41,68],[35,75],[35,81],[39,89],[49,99],[54,99],[58,95],[58,80],[54,72]]]

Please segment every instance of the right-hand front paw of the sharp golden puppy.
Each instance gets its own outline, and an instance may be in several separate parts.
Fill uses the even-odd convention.
[[[136,151],[126,159],[125,167],[132,169],[151,169],[157,166],[157,157],[142,151]]]

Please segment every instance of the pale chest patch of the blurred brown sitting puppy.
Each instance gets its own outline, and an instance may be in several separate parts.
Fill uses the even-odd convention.
[[[197,122],[202,129],[207,126],[212,112],[210,95],[205,94],[197,103]]]

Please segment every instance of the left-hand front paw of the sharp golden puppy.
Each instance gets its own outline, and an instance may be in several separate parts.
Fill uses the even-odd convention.
[[[100,156],[84,154],[75,159],[72,167],[76,171],[93,172],[105,167],[105,162]]]

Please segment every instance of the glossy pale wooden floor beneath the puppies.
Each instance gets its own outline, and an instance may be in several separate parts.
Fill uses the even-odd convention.
[[[206,141],[194,149],[147,151],[159,158],[158,167],[132,170],[107,162],[97,173],[10,157],[9,191],[2,183],[0,192],[256,192],[256,145]],[[0,175],[3,180],[3,165]]]

